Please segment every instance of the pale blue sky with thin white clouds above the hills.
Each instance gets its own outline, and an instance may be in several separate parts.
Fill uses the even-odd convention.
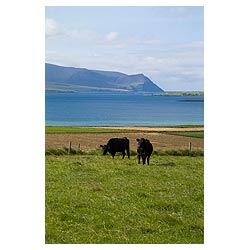
[[[47,6],[45,60],[142,73],[165,91],[203,91],[204,8]]]

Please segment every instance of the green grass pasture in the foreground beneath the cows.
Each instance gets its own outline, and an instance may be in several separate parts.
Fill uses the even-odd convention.
[[[47,155],[46,243],[203,243],[204,158],[150,160]]]

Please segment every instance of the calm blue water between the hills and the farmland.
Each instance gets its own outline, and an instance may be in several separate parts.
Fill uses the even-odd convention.
[[[78,92],[45,94],[49,126],[203,125],[202,96]]]

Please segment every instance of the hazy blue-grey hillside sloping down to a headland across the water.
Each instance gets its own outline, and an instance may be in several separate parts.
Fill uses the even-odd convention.
[[[143,74],[89,70],[45,64],[46,91],[163,92]]]

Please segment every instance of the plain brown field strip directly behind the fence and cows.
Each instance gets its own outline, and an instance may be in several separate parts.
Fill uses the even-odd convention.
[[[157,133],[151,131],[135,131],[135,132],[117,132],[117,133],[47,133],[45,135],[46,148],[63,148],[68,147],[72,142],[72,147],[77,148],[81,145],[82,150],[92,150],[99,148],[101,144],[105,144],[110,138],[127,137],[130,140],[131,149],[136,150],[137,138],[149,139],[155,149],[186,149],[189,143],[193,148],[203,149],[204,139],[193,138],[178,135],[169,135],[166,133]]]

